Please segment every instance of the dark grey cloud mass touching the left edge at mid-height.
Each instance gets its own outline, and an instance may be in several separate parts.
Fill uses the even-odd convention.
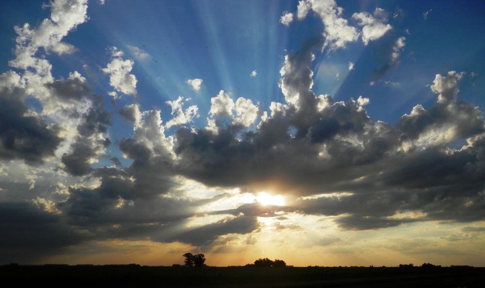
[[[4,73],[0,77],[9,75]],[[0,85],[0,159],[39,164],[54,154],[62,139],[55,125],[47,125],[42,117],[27,114],[24,98],[24,89]]]

